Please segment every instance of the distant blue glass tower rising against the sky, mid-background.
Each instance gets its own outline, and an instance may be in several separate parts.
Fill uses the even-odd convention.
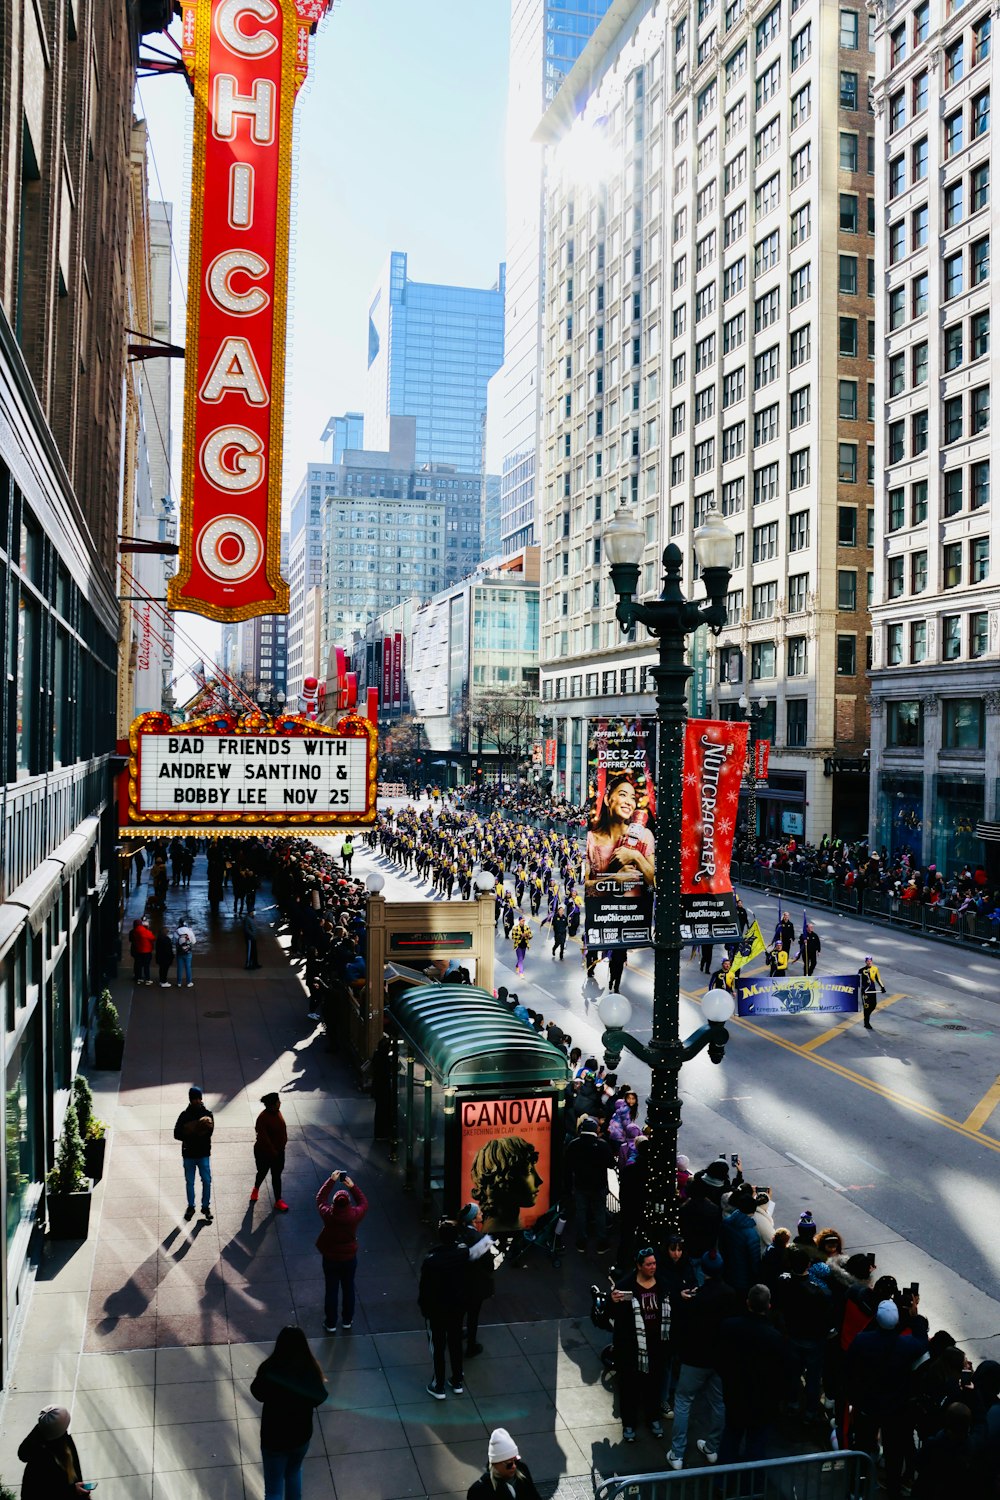
[[[364,442],[388,448],[390,417],[417,422],[417,465],[483,466],[486,387],[504,358],[504,267],[489,290],[406,274],[393,250],[369,306]]]

